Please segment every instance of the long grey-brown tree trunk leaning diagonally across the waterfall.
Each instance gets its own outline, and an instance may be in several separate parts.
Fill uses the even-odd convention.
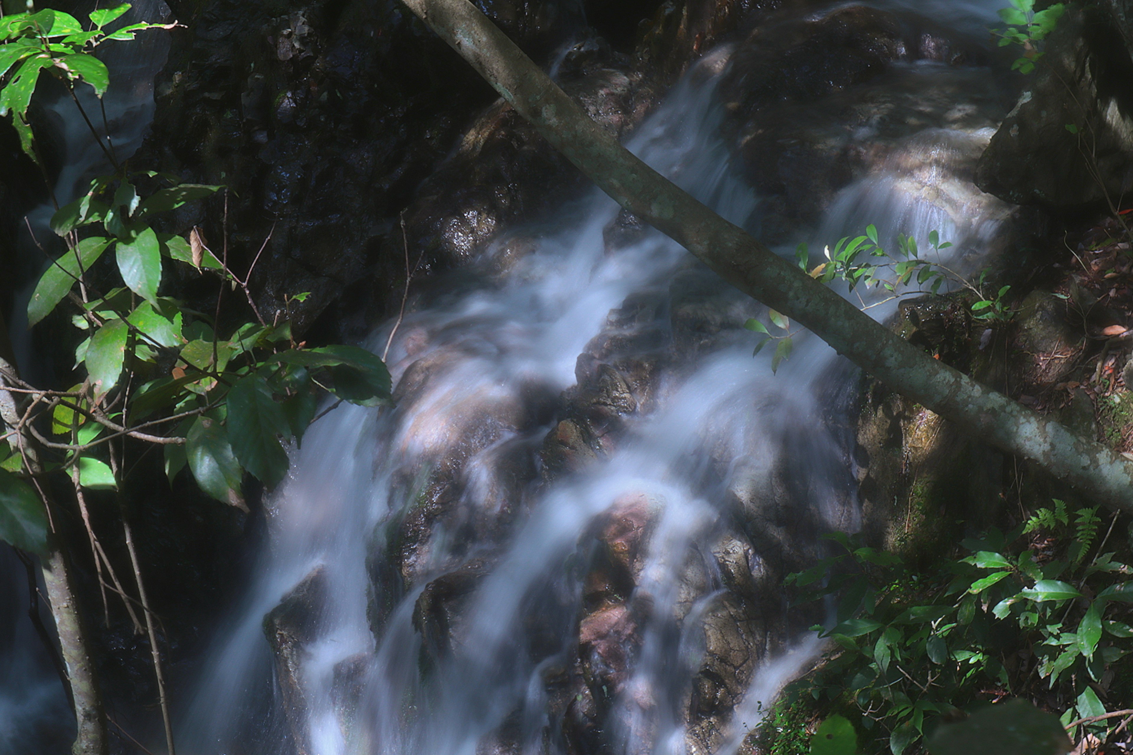
[[[625,209],[740,291],[813,331],[894,391],[1084,495],[1133,513],[1133,465],[931,359],[638,160],[467,0],[403,0],[516,111]]]

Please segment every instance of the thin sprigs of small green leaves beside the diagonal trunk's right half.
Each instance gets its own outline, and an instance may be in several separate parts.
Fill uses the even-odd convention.
[[[940,241],[938,231],[930,231],[928,241],[937,258],[942,249],[952,247],[952,242]],[[906,295],[936,295],[945,283],[952,283],[974,294],[976,301],[971,306],[973,318],[995,323],[1011,319],[1012,311],[1005,299],[1011,291],[1010,285],[1000,286],[994,294],[988,292],[987,271],[980,274],[978,281],[971,282],[942,263],[922,257],[917,239],[911,235],[897,237],[897,250],[891,254],[880,246],[877,228],[869,225],[864,234],[843,237],[834,244],[833,250],[827,246],[824,254],[826,261],[811,268],[810,251],[806,243],[800,243],[795,249],[795,260],[803,273],[823,283],[829,284],[837,280],[847,284],[851,292],[861,285],[866,289],[884,289],[893,294],[877,303]],[[876,307],[877,303],[869,307]],[[777,328],[775,332],[756,318],[749,319],[743,327],[764,336],[756,343],[752,357],[772,341],[777,342],[772,357],[772,372],[775,372],[783,360],[791,355],[793,334],[790,320],[780,312],[769,309],[767,318]]]

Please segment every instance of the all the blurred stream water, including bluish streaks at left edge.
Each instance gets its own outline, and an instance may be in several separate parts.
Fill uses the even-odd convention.
[[[1000,3],[878,5],[986,35]],[[716,84],[730,52],[706,55],[628,146],[755,228],[760,197],[721,137]],[[127,79],[144,89],[161,55]],[[900,80],[930,88],[956,75],[909,65]],[[114,118],[152,102],[134,94],[120,106],[108,101]],[[875,223],[891,244],[908,233],[923,246],[939,231],[955,244],[942,259],[949,266],[970,268],[987,254],[1005,208],[981,197],[963,166],[990,130],[909,123],[815,223],[812,249]],[[119,148],[139,134],[122,135]],[[73,136],[65,195],[97,161]],[[553,226],[509,234],[458,293],[424,293],[393,332],[393,406],[343,405],[308,431],[269,501],[270,542],[240,608],[219,628],[191,695],[178,692],[189,698],[179,752],[731,755],[815,657],[817,643],[781,616],[778,560],[817,554],[821,531],[859,526],[843,427],[855,372],[801,333],[773,374],[773,349],[753,359],[741,327],[765,310],[655,232],[611,241],[617,220],[617,206],[595,195]],[[876,303],[878,319],[896,307],[862,303]],[[685,315],[714,325],[693,328],[692,348],[670,349],[691,337]],[[392,329],[382,325],[367,345],[382,353]],[[546,438],[565,427],[557,397],[580,402],[591,368],[606,375],[595,343],[640,343],[647,333],[680,359],[644,380],[648,397],[622,407],[611,436],[595,441],[605,453],[548,469]],[[612,346],[607,361],[651,363],[648,351]],[[612,522],[629,522],[629,534],[608,534]],[[630,554],[632,589],[619,600],[591,584],[605,547],[613,556],[600,558]],[[0,563],[0,580],[22,584],[22,567]],[[24,610],[20,590],[0,603],[0,619]],[[743,604],[738,591],[756,595],[758,609],[722,624]],[[67,740],[58,680],[25,624],[0,627],[0,650],[10,649],[0,654],[0,755],[61,752]],[[741,689],[706,707],[719,636],[743,644],[729,660]]]

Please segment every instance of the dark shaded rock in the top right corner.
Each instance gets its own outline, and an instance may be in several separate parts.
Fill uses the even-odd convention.
[[[981,189],[1064,211],[1108,208],[1133,189],[1133,25],[1127,3],[1109,5],[1058,22],[980,161]]]

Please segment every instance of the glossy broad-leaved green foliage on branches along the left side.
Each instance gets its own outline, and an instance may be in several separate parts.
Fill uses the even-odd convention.
[[[110,31],[128,9],[94,10],[86,29],[54,10],[0,18],[0,114],[12,112],[22,147],[33,158],[26,115],[39,74],[46,70],[68,87],[90,84],[102,96],[109,75],[92,52],[155,26]],[[93,127],[92,136],[100,139]],[[67,473],[82,488],[121,487],[125,472],[116,458],[121,460],[129,438],[164,447],[170,480],[187,466],[204,492],[244,506],[245,472],[266,486],[282,480],[284,444],[301,438],[321,396],[373,406],[389,398],[390,374],[381,359],[357,346],[296,343],[281,319],[286,312],[267,323],[252,303],[250,271],[236,275],[227,255],[213,254],[196,229],[181,237],[155,228],[163,214],[221,187],[128,171],[108,156],[114,173],[91,181],[83,196],[52,216],[51,229],[66,251],[43,273],[27,308],[31,326],[65,304],[70,310],[82,338],[76,385],[42,391],[25,384],[20,387],[29,397],[20,412],[33,426],[49,418],[57,440],[43,441],[53,453],[42,465]],[[103,259],[111,249],[114,265]],[[242,289],[255,319],[221,323],[163,295],[163,281],[176,277],[173,266],[213,278],[218,302],[210,309],[218,316],[223,292]],[[9,446],[22,452],[24,431],[9,430]],[[45,501],[18,477],[26,474],[22,458],[14,453],[0,463],[0,540],[43,552]]]

